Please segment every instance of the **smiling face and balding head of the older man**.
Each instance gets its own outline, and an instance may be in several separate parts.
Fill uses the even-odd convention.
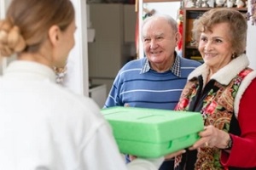
[[[176,46],[177,33],[166,20],[149,20],[143,26],[143,49],[151,67],[170,67]]]

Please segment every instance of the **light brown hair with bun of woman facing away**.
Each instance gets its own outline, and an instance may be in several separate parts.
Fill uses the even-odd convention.
[[[5,20],[0,20],[0,56],[36,53],[51,26],[61,31],[74,20],[70,0],[12,0]]]

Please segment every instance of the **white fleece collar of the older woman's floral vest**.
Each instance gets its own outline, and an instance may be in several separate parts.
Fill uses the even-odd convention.
[[[221,84],[228,85],[230,81],[236,77],[236,75],[241,72],[243,69],[247,68],[249,65],[249,60],[247,59],[246,54],[241,54],[236,59],[232,59],[228,65],[225,65],[219,71],[212,75],[211,79],[215,79]],[[194,77],[199,77],[200,75],[205,80],[207,79],[209,73],[209,67],[206,64],[203,64],[197,67],[194,71],[189,74],[188,80],[191,80]]]

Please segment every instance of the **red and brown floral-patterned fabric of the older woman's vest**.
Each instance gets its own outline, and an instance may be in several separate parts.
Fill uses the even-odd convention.
[[[201,115],[205,120],[205,125],[213,125],[218,129],[226,132],[230,129],[231,116],[234,113],[234,99],[236,93],[244,77],[247,76],[252,70],[247,68],[241,71],[228,86],[224,86],[218,82],[214,83],[214,87],[218,87],[217,92],[210,90],[207,97],[203,100],[203,106],[201,108]],[[189,81],[185,88],[181,98],[177,104],[176,111],[189,111],[189,104],[195,100],[195,94],[197,94],[199,88],[198,80]],[[198,150],[197,161],[195,162],[196,170],[223,170],[226,169],[220,164],[220,149],[203,147]],[[175,159],[177,161],[181,158]]]

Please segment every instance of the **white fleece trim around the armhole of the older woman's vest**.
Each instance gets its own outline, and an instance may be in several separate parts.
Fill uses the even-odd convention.
[[[236,118],[238,117],[239,105],[240,105],[242,94],[244,94],[247,87],[250,85],[250,83],[253,81],[255,77],[256,77],[256,71],[250,72],[246,77],[244,77],[240,87],[238,88],[235,101],[234,101],[234,111],[235,111]]]

